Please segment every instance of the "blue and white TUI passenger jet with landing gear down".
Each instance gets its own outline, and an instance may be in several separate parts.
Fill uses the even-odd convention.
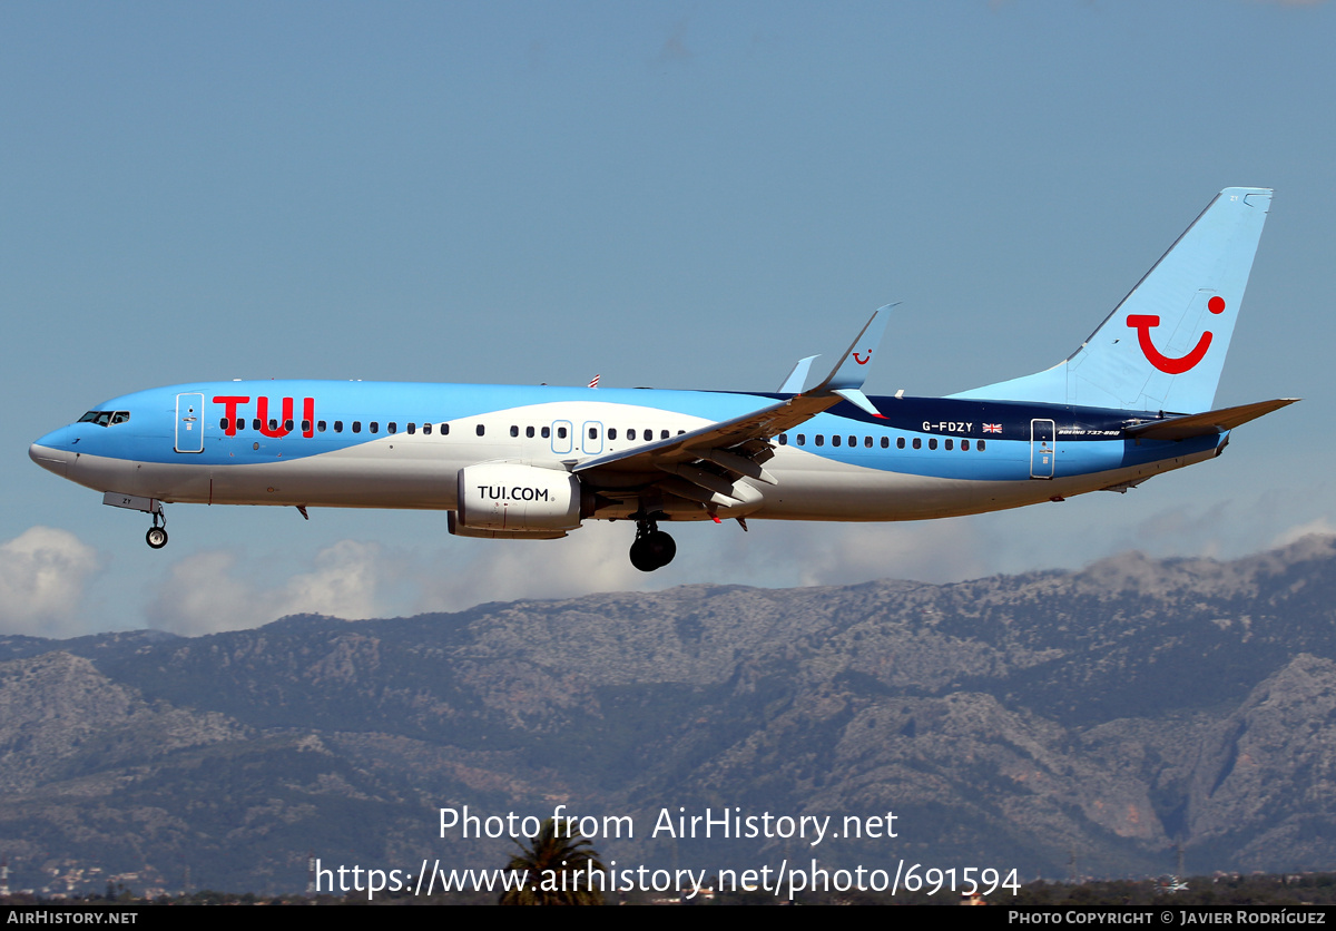
[[[643,572],[676,554],[667,522],[929,520],[1128,492],[1297,401],[1212,410],[1271,198],[1225,188],[1066,359],[945,398],[863,393],[890,305],[811,387],[818,357],[774,393],[191,382],[98,405],[29,457],[147,513],[154,549],[167,504],[413,508],[492,540],[633,521]]]

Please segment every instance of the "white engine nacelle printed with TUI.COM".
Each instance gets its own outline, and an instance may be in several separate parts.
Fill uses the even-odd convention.
[[[460,469],[458,524],[473,530],[574,530],[580,480],[568,472],[509,462]]]

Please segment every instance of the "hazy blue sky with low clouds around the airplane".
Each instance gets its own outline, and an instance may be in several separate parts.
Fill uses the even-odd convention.
[[[691,582],[930,581],[1336,529],[1331,4],[0,7],[0,629],[202,632]],[[1128,496],[935,524],[456,540],[33,466],[199,378],[770,390],[903,301],[872,393],[1070,353],[1221,187],[1276,188],[1218,405],[1304,403]]]

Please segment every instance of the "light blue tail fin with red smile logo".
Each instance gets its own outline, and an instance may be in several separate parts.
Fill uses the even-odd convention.
[[[1225,188],[1081,349],[1045,371],[951,397],[1210,410],[1269,208],[1269,190]]]

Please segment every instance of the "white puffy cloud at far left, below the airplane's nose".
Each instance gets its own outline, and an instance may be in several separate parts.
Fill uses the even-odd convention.
[[[0,629],[41,637],[87,633],[84,584],[98,553],[65,530],[35,526],[0,545]]]

